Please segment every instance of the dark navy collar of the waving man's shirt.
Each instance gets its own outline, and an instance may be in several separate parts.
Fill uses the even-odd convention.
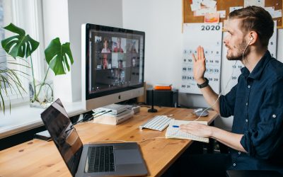
[[[265,52],[265,55],[263,55],[263,57],[258,62],[258,64],[255,65],[255,68],[251,73],[248,71],[246,67],[243,67],[241,69],[243,76],[245,76],[246,78],[249,77],[251,79],[259,79],[263,69],[265,68],[266,64],[270,62],[271,58],[272,57],[270,55],[270,52],[267,50]]]

